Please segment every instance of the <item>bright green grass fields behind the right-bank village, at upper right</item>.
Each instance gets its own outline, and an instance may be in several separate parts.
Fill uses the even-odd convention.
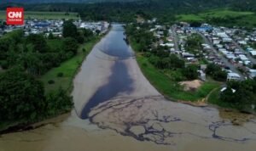
[[[211,18],[231,19],[230,22],[224,22],[222,25],[239,25],[247,27],[256,27],[256,14],[253,12],[238,12],[227,8],[212,9],[200,14],[179,14],[176,16],[179,21],[207,21]],[[221,23],[219,23],[221,24]]]

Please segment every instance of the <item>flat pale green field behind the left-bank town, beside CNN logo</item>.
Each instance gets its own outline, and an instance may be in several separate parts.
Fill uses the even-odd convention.
[[[77,13],[66,12],[35,12],[25,11],[25,19],[38,19],[38,20],[61,20],[61,19],[79,19]],[[0,11],[0,20],[6,20],[6,11]]]

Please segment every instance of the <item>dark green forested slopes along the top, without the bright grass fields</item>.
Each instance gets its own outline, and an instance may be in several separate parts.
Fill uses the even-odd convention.
[[[32,11],[79,12],[84,20],[110,20],[130,22],[137,14],[144,19],[157,17],[160,21],[172,22],[176,14],[198,14],[212,8],[230,8],[236,11],[256,11],[254,0],[140,0],[134,2],[102,3],[3,3],[7,6],[23,6]],[[220,20],[221,21],[221,20]],[[225,20],[224,20],[225,21]]]

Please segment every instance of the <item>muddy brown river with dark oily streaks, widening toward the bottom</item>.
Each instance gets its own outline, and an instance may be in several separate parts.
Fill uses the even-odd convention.
[[[2,135],[0,151],[256,150],[253,117],[166,100],[143,76],[124,38],[123,28],[113,25],[84,60],[73,81],[71,114]]]

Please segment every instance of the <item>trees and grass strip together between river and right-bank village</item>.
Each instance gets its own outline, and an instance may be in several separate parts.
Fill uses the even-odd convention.
[[[166,98],[198,101],[206,98],[212,89],[219,86],[217,82],[209,81],[195,91],[184,91],[179,82],[197,79],[198,66],[191,64],[185,67],[183,59],[174,54],[170,55],[164,47],[155,47],[155,39],[148,32],[148,25],[140,25],[139,29],[136,27],[137,25],[126,26],[126,34],[132,48],[137,52],[137,63],[148,81]]]

